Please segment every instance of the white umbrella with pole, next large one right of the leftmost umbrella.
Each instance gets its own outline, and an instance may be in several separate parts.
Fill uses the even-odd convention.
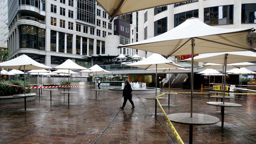
[[[84,68],[83,66],[80,66],[80,65],[74,63],[71,59],[67,59],[61,65],[55,66],[54,69],[58,69],[58,70],[68,69],[68,72],[69,72],[69,70],[87,70],[88,68]]]

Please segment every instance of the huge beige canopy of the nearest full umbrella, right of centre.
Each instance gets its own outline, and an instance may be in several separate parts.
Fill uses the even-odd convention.
[[[225,29],[204,24],[198,18],[188,18],[179,26],[161,35],[119,46],[154,52],[165,56],[191,54],[191,38],[195,40],[194,54],[251,50],[247,35],[253,29]]]

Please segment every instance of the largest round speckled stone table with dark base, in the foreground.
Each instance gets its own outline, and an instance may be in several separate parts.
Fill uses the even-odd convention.
[[[208,114],[193,113],[192,118],[190,113],[173,113],[167,116],[171,122],[189,125],[189,144],[193,143],[193,125],[211,125],[219,122],[219,118]]]

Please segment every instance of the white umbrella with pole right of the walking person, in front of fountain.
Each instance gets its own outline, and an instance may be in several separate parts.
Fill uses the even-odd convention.
[[[152,54],[146,59],[128,64],[127,66],[135,66],[135,67],[141,67],[145,69],[155,68],[156,69],[156,91],[157,91],[157,79],[158,79],[157,69],[158,68],[184,68],[183,66],[177,65],[171,60],[165,59],[160,54]],[[155,105],[156,105],[156,101],[155,101]],[[156,116],[156,107],[155,107],[155,116]]]

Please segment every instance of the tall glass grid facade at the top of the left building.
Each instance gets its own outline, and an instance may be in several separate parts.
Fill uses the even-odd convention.
[[[78,20],[95,24],[95,0],[77,0]]]

